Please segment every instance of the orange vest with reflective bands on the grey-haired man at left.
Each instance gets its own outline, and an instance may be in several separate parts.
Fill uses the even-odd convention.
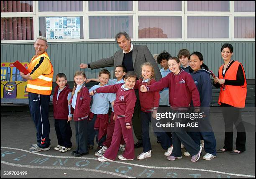
[[[32,72],[41,57],[44,57],[44,60],[48,60],[51,64],[48,54],[44,52],[44,54],[39,56],[33,56],[31,62],[28,64],[28,72]],[[28,80],[26,91],[40,95],[51,95],[53,73],[53,66],[51,64],[51,68],[47,69],[47,71],[41,74],[37,79]]]

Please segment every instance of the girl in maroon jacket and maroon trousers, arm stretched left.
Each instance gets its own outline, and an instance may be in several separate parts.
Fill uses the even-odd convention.
[[[136,102],[136,95],[133,87],[136,83],[137,75],[134,72],[127,72],[125,75],[125,84],[115,84],[106,87],[97,88],[90,92],[94,95],[100,92],[116,93],[114,103],[115,109],[115,129],[112,137],[110,147],[105,154],[98,158],[98,161],[113,161],[118,154],[118,149],[123,135],[126,143],[123,155],[118,155],[120,160],[133,160],[134,159],[134,140],[133,130],[131,130],[131,119],[133,117],[133,109]]]

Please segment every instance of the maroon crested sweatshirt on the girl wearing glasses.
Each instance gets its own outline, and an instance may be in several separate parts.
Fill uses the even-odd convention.
[[[169,73],[159,82],[147,87],[148,92],[161,91],[169,87],[169,103],[174,110],[188,110],[191,100],[195,107],[200,106],[200,97],[191,75],[183,69],[179,74]]]

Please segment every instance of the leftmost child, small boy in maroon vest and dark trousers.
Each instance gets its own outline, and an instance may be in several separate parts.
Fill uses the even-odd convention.
[[[68,101],[71,99],[72,92],[67,84],[67,77],[64,73],[56,75],[56,83],[54,95],[51,96],[54,107],[54,127],[58,139],[58,146],[54,147],[54,150],[60,152],[67,152],[71,150],[72,143],[72,130],[70,127],[70,120],[72,114],[70,114],[70,105]]]

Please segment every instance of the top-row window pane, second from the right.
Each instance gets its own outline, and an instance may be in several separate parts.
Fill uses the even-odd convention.
[[[229,1],[187,1],[187,11],[229,11]]]

